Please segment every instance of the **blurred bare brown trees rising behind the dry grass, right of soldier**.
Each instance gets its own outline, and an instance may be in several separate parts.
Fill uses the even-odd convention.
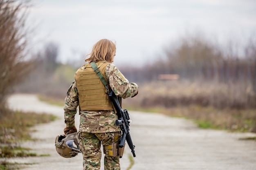
[[[248,40],[242,53],[238,50],[222,50],[217,45],[196,38],[180,40],[177,46],[166,47],[162,56],[148,61],[146,66],[129,66],[120,70],[128,77],[142,82],[156,80],[159,74],[178,74],[182,79],[215,80],[223,83],[246,81],[255,85],[255,40]]]

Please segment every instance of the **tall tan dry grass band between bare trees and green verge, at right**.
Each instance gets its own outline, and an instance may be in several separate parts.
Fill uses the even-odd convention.
[[[215,108],[246,108],[250,86],[216,84],[213,82],[165,81],[141,84],[135,103],[141,106],[213,106]]]

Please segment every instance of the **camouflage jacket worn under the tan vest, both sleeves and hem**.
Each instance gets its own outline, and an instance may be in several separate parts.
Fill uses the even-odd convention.
[[[112,91],[114,91],[117,96],[125,99],[137,94],[137,84],[129,83],[114,64],[109,64],[106,67],[105,74]],[[74,117],[79,105],[79,94],[75,81],[68,89],[67,96],[65,97],[64,119],[66,127],[73,127],[75,125]],[[115,125],[117,115],[114,110],[81,110],[80,114],[80,132],[104,133],[120,131],[119,126]]]

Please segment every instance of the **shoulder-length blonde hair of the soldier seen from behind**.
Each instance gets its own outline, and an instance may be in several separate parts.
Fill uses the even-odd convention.
[[[94,46],[92,47],[92,52],[87,56],[90,56],[88,59],[85,59],[85,62],[98,62],[98,61],[106,61],[106,62],[113,62],[114,56],[116,53],[116,45],[114,42],[102,39],[99,40]]]

